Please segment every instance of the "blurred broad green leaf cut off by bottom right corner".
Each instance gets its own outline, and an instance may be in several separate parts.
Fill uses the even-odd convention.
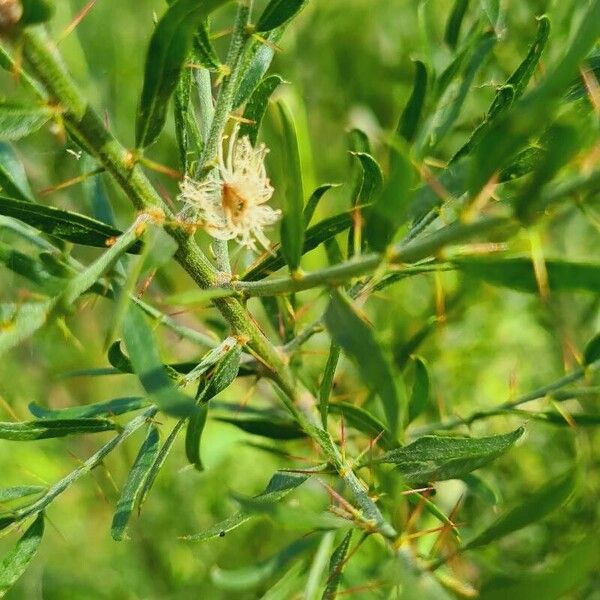
[[[480,600],[561,600],[598,571],[598,535],[575,543],[552,568],[531,574],[499,576],[484,583]],[[585,596],[582,596],[585,597]]]

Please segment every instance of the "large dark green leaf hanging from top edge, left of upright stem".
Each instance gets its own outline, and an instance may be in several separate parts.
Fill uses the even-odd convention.
[[[158,22],[146,54],[144,86],[135,124],[135,143],[145,148],[159,136],[198,27],[228,0],[176,0]]]

